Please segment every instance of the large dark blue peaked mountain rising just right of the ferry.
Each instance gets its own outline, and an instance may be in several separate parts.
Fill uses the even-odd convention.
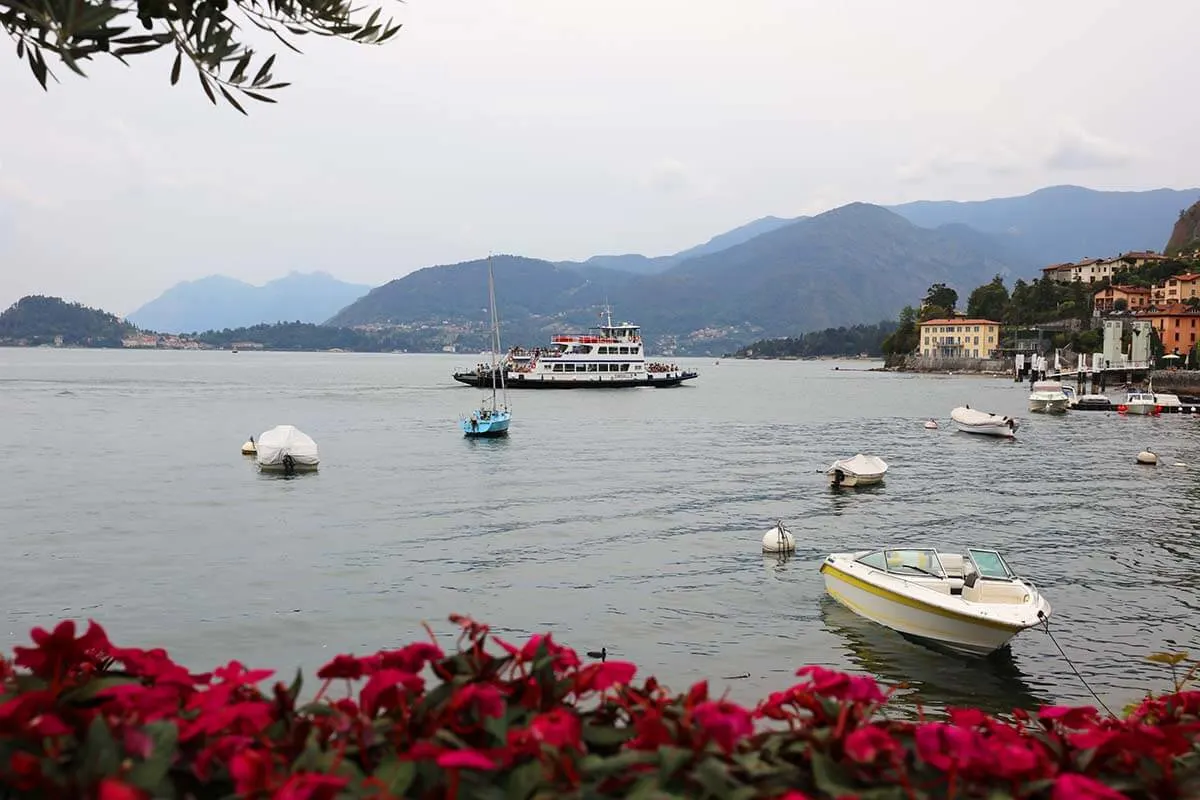
[[[865,203],[827,211],[631,283],[623,315],[649,331],[700,341],[726,330],[787,336],[890,319],[942,282],[960,296],[1032,264],[997,236],[965,225],[919,228]],[[761,336],[760,336],[761,338]]]

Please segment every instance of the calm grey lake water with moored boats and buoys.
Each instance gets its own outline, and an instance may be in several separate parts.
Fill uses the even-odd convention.
[[[934,705],[1093,702],[1040,631],[968,667],[823,596],[827,553],[922,542],[1004,552],[1114,708],[1168,685],[1145,655],[1196,639],[1194,419],[1043,417],[1028,384],[869,362],[683,360],[701,375],[678,389],[514,391],[511,437],[470,441],[482,392],[450,373],[478,360],[0,349],[0,648],[90,616],[197,668],[290,674],[422,620],[449,637],[461,612],[743,702],[806,663]],[[961,403],[1018,416],[1019,439],[954,432]],[[239,455],[280,423],[317,440],[319,474]],[[1147,446],[1158,468],[1134,464]],[[856,452],[886,485],[829,489],[818,470]],[[761,552],[776,518],[786,563]]]

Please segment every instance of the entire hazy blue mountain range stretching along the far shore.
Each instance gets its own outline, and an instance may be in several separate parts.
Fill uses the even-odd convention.
[[[1055,186],[1015,198],[918,201],[895,206],[853,203],[812,217],[763,217],[671,255],[595,255],[548,261],[493,259],[504,338],[539,344],[553,331],[594,325],[611,302],[667,351],[719,353],[764,336],[894,317],[942,282],[965,296],[994,275],[1037,276],[1037,267],[1091,255],[1158,249],[1181,209],[1200,188],[1100,192]],[[319,307],[252,299],[266,287],[229,278],[180,284],[130,319],[154,330],[233,327],[233,323],[292,319],[330,325],[420,331],[428,349],[484,345],[484,260],[416,270],[367,291],[326,275]],[[242,289],[230,303],[222,281]],[[209,283],[206,283],[209,282]],[[200,291],[199,289],[211,289]],[[341,294],[331,290],[338,287]],[[187,323],[174,308],[186,309]],[[344,301],[337,305],[337,297]],[[336,307],[335,307],[336,306]],[[218,317],[224,308],[238,309]],[[150,314],[154,311],[157,317]]]

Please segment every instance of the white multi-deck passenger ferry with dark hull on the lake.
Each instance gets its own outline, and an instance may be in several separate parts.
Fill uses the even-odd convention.
[[[550,338],[548,348],[514,348],[500,363],[509,389],[622,389],[629,386],[678,386],[698,373],[673,363],[647,362],[641,327],[606,325],[595,335],[563,333]],[[469,386],[492,385],[491,365],[456,372],[454,379]]]

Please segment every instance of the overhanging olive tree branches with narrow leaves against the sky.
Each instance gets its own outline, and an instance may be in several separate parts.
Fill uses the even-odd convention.
[[[48,61],[86,77],[82,62],[94,56],[128,65],[131,56],[170,48],[172,85],[187,61],[214,104],[220,95],[245,114],[235,94],[274,103],[265,92],[288,85],[271,73],[274,54],[260,58],[246,44],[246,23],[299,53],[290,40],[308,34],[382,44],[400,30],[382,11],[354,22],[359,8],[349,0],[0,0],[0,25],[42,89],[58,80]]]

